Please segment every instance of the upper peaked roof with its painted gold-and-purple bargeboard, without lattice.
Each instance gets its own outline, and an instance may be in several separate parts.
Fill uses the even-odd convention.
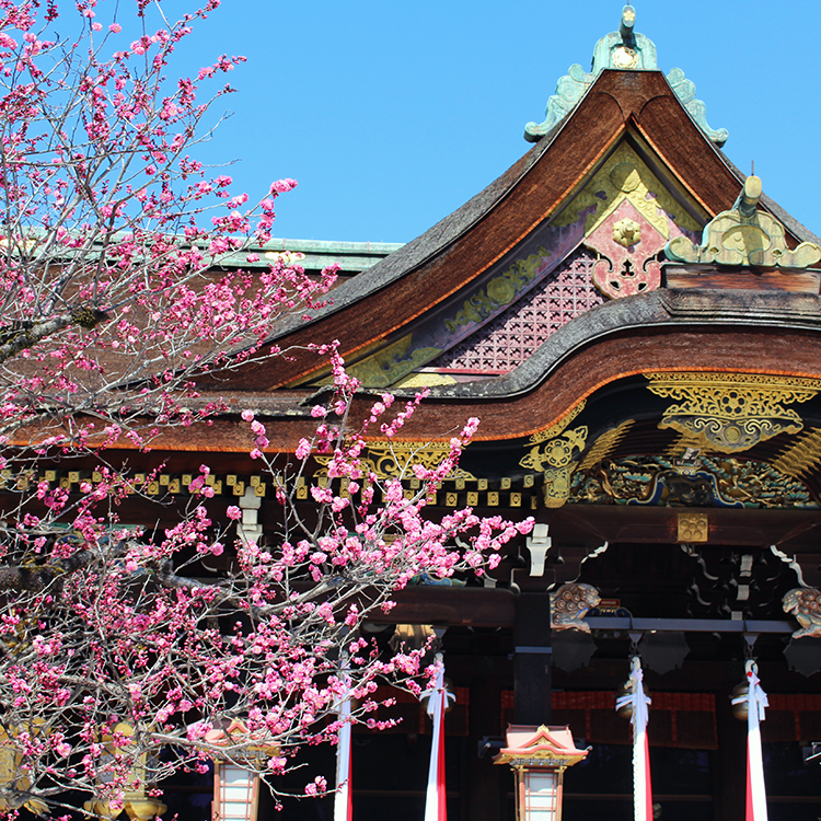
[[[620,207],[632,216],[620,212],[615,216],[623,219],[615,221],[644,220],[646,231],[644,246],[627,246],[624,262],[638,258],[644,264],[647,255],[641,252],[650,246],[651,232],[661,242],[656,251],[671,239],[671,231],[696,240],[712,218],[731,208],[742,182],[660,72],[605,69],[571,115],[508,172],[338,288],[333,304],[309,323],[294,321],[282,328],[276,342],[305,345],[338,338],[354,372],[359,369],[366,377],[366,386],[402,385],[403,379],[463,345],[466,332],[475,336],[500,317],[501,309],[546,286],[571,254],[606,256],[602,242],[609,241],[595,235],[597,230],[610,230],[603,223]],[[759,207],[785,227],[788,245],[817,241],[765,195]],[[542,259],[534,262],[534,254]],[[513,282],[516,292],[508,294],[510,284],[502,280],[511,279],[513,268],[528,281]],[[488,285],[496,289],[496,301],[486,291]],[[610,286],[595,286],[590,307],[613,296]],[[551,294],[544,291],[544,298]],[[479,305],[479,316],[465,321],[459,312],[471,301]],[[379,369],[385,379],[372,378]],[[316,360],[297,355],[288,367],[247,369],[235,388],[267,391],[321,381]]]

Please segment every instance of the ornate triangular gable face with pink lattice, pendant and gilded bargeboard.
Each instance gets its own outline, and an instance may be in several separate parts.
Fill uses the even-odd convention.
[[[497,377],[603,301],[656,290],[666,243],[694,241],[709,215],[650,158],[625,135],[514,250],[350,372],[368,388]]]

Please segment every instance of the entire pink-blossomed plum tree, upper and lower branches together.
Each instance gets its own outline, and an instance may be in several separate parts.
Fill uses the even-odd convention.
[[[56,0],[0,0],[0,471],[13,499],[0,517],[0,753],[14,762],[0,811],[11,813],[55,811],[78,791],[115,812],[126,794],[213,759],[276,789],[301,748],[335,742],[343,699],[378,728],[390,725],[379,682],[420,692],[424,652],[389,654],[363,625],[419,578],[496,566],[532,524],[428,510],[476,419],[440,463],[378,476],[369,439],[394,441],[425,394],[383,394],[354,418],[361,386],[335,343],[315,346],[333,384],[290,459],[273,452],[264,414],[241,412],[247,453],[275,488],[265,539],[219,498],[207,464],[182,502],[160,494],[159,456],[130,472],[122,449],[147,463],[162,426],[231,413],[203,383],[284,355],[277,323],[323,304],[335,277],[281,256],[221,267],[248,242],[264,247],[296,183],[275,182],[252,207],[193,159],[210,103],[231,91],[201,102],[201,90],[242,58],[170,84],[175,48],[219,0],[152,27],[158,4],[77,0],[80,36],[61,38]],[[49,478],[69,458],[77,482]],[[305,499],[320,466],[327,482]],[[140,506],[142,524],[129,525],[124,511]],[[326,788],[311,774],[304,793]]]

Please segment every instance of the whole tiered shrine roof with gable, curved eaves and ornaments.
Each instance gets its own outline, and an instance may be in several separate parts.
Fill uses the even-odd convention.
[[[173,493],[203,452],[219,494],[262,487],[240,410],[265,420],[271,454],[294,452],[327,380],[309,346],[338,339],[363,386],[352,418],[385,390],[430,388],[401,438],[369,440],[369,470],[438,464],[481,418],[430,507],[535,514],[573,545],[565,580],[605,542],[708,539],[774,545],[821,582],[821,241],[732,165],[692,84],[628,30],[599,42],[577,97],[559,82],[568,105],[552,97],[535,144],[460,209],[396,250],[337,245],[367,269],[279,329],[287,357],[200,383],[197,401],[230,409],[154,442]],[[270,252],[334,252],[303,245]],[[304,483],[331,481],[322,459]]]

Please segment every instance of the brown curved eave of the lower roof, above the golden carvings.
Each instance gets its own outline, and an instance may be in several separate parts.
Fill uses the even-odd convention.
[[[692,293],[690,291],[684,296],[691,297]],[[648,302],[658,303],[669,296],[655,292],[647,297],[620,300],[618,303],[646,307]],[[760,300],[771,296],[760,294]],[[794,301],[806,299],[805,294],[786,297]],[[519,373],[514,371],[504,380],[431,392],[407,421],[397,440],[447,440],[470,416],[482,419],[474,437],[476,442],[527,439],[559,421],[580,401],[598,390],[654,371],[764,373],[821,379],[821,304],[817,298],[812,299],[818,309],[813,323],[816,327],[809,320],[790,327],[766,324],[761,320],[756,323],[755,319],[748,322],[741,317],[733,320],[732,315],[728,315],[724,322],[697,319],[671,322],[669,316],[664,319],[659,313],[656,322],[649,316],[644,324],[635,323],[621,328],[614,322],[608,329],[595,322],[598,314],[604,313],[602,309],[623,309],[626,305],[602,305],[579,317],[590,317],[587,339],[570,339],[578,344],[564,346],[564,354],[554,358],[551,355],[563,343],[559,337],[565,337],[564,342],[567,342],[569,336],[569,333],[563,334],[565,328],[562,328],[554,335],[554,349],[548,348],[548,342],[545,349],[529,362],[530,372],[519,369]],[[623,313],[616,314],[615,319],[620,316]],[[266,413],[264,395],[256,394],[254,398],[252,406],[261,417],[267,416],[271,451],[293,452],[302,437],[312,435],[316,420],[310,416],[307,395],[301,409],[294,408],[296,413],[287,414],[281,410],[277,413],[274,407]],[[372,393],[358,395],[351,410],[352,418],[367,416],[373,401]],[[154,448],[189,452],[247,451],[252,447],[252,437],[247,426],[239,418],[239,408],[244,406],[246,403],[238,403],[235,416],[215,418],[209,426],[194,425],[183,430],[171,428],[162,431],[154,440]],[[130,449],[130,446],[124,444]]]

